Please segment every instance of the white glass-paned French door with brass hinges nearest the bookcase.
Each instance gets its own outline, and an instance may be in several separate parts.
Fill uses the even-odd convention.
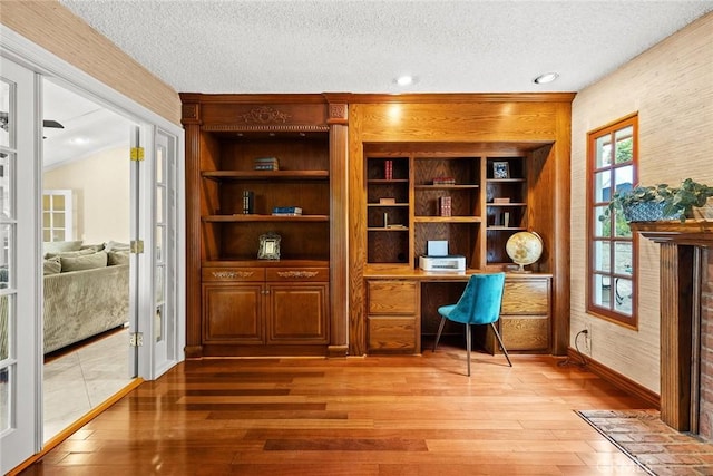
[[[153,380],[183,359],[178,332],[180,280],[178,137],[158,127],[137,128],[134,147],[144,159],[135,161],[131,194],[137,221],[133,236],[141,251],[137,259],[138,376]],[[134,331],[133,331],[134,332]]]

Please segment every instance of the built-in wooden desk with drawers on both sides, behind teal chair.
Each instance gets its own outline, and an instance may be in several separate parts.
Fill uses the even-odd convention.
[[[420,353],[421,337],[438,330],[438,308],[458,301],[475,272],[367,270],[367,352]],[[508,352],[550,352],[550,297],[551,274],[506,274],[498,330]],[[447,333],[462,334],[462,327],[449,326]],[[488,352],[500,351],[489,327],[479,327],[477,338]]]

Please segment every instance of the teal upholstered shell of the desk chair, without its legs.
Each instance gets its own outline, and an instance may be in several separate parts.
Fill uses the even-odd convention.
[[[469,324],[489,324],[500,317],[505,273],[472,274],[448,317]]]

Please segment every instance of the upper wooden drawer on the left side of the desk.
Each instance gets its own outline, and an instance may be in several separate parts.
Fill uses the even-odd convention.
[[[367,313],[416,314],[418,290],[416,281],[367,281]]]

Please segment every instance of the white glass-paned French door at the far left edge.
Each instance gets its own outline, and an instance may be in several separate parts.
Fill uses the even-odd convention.
[[[39,76],[0,58],[0,473],[41,445]]]

